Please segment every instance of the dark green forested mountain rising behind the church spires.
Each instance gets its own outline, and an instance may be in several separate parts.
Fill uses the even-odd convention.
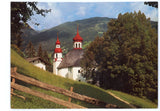
[[[42,44],[45,50],[51,52],[55,47],[58,32],[61,46],[71,49],[73,46],[72,39],[77,32],[77,24],[79,24],[79,33],[83,37],[84,41],[92,41],[95,37],[102,36],[103,32],[107,31],[107,23],[110,19],[111,18],[107,17],[94,17],[84,20],[77,20],[74,22],[66,22],[49,30],[42,31],[34,35],[29,35],[27,38],[25,37],[24,46],[26,46],[28,41],[31,40],[35,47]]]

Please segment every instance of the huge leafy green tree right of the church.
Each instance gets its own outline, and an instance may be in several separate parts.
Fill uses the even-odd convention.
[[[103,88],[157,99],[157,33],[150,20],[140,11],[119,14],[101,39],[89,45],[82,67],[95,69]]]

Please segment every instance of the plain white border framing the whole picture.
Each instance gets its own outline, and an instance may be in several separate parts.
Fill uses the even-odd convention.
[[[13,0],[14,1],[14,0]],[[23,0],[16,0],[16,1],[23,1]],[[27,1],[33,1],[33,0],[27,0]],[[39,0],[39,2],[144,2],[144,0]],[[149,0],[149,1],[156,1],[156,0]],[[0,74],[1,74],[1,79],[0,79],[0,109],[4,111],[21,111],[21,110],[40,110],[40,111],[53,111],[53,110],[71,110],[71,109],[11,109],[10,108],[10,0],[4,0],[1,1],[1,6],[0,6],[0,30],[1,30],[1,37],[0,37]],[[160,6],[160,3],[158,4]],[[158,9],[158,12],[160,9]],[[158,15],[159,18],[159,15]],[[158,20],[159,22],[159,20]],[[158,42],[160,42],[159,39],[159,32],[160,32],[160,26],[158,23]],[[159,58],[159,47],[160,45],[158,44],[158,58]],[[159,72],[159,62],[160,60],[158,59],[158,80],[160,80]],[[160,84],[160,81],[158,81],[158,84]],[[158,85],[158,95],[160,92],[160,86]],[[160,110],[160,104],[159,104],[159,99],[160,97],[158,96],[158,108],[156,109],[136,109],[136,110],[146,110],[146,111],[158,111]],[[72,109],[75,110],[75,109]],[[77,111],[82,111],[82,109],[76,109]],[[94,110],[94,111],[99,111],[99,110],[108,110],[108,111],[115,111],[115,110],[135,110],[135,109],[83,109],[83,111],[88,111],[88,110]]]

